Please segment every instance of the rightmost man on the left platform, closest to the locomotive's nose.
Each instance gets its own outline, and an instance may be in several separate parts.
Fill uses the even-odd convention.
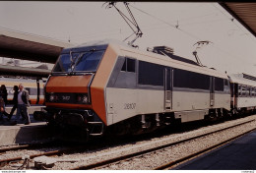
[[[16,113],[16,121],[13,125],[16,125],[18,120],[20,119],[21,112],[24,113],[25,116],[25,125],[31,124],[30,115],[28,113],[28,107],[30,107],[30,95],[29,91],[26,90],[23,84],[19,85],[19,93],[18,93],[18,105],[17,105],[17,113]]]

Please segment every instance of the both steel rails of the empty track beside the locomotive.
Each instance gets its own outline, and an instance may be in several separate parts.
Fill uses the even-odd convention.
[[[202,138],[206,138],[208,136],[211,136],[211,135],[214,135],[214,134],[218,134],[218,133],[223,133],[223,132],[226,132],[230,129],[233,129],[233,128],[236,128],[238,126],[244,126],[246,124],[249,124],[249,123],[252,123],[252,122],[255,122],[255,120],[250,120],[250,121],[246,121],[246,122],[243,122],[243,123],[239,123],[239,124],[236,124],[236,125],[233,125],[233,126],[229,126],[229,127],[226,127],[226,128],[223,128],[223,129],[220,129],[220,130],[217,130],[217,131],[214,131],[214,132],[210,132],[210,133],[206,133],[206,134],[203,134],[203,135],[199,135],[199,136],[196,136],[196,137],[192,137],[192,138],[188,138],[188,139],[185,139],[185,140],[181,140],[181,141],[178,141],[178,142],[174,142],[174,143],[170,143],[170,144],[163,144],[163,145],[160,145],[160,146],[157,146],[157,147],[153,147],[153,148],[149,148],[149,149],[144,149],[144,150],[141,150],[141,151],[138,151],[138,152],[134,152],[134,153],[129,153],[129,154],[125,154],[125,155],[121,155],[121,156],[117,156],[117,157],[113,157],[113,158],[110,158],[110,159],[106,159],[106,160],[103,160],[103,161],[99,161],[99,162],[96,162],[96,163],[93,163],[93,164],[89,164],[89,165],[82,165],[82,166],[78,166],[76,168],[73,168],[73,170],[88,170],[88,169],[107,169],[107,167],[110,167],[111,164],[118,164],[118,163],[121,163],[121,162],[126,162],[126,164],[129,164],[129,161],[132,161],[133,159],[137,160],[138,159],[141,159],[143,157],[151,157],[150,154],[154,154],[154,153],[158,153],[158,152],[161,152],[162,150],[168,150],[169,148],[173,147],[173,146],[176,146],[176,145],[179,145],[179,144],[184,144],[184,143],[190,143],[192,141],[195,141],[195,140],[198,140],[198,139],[202,139]],[[256,128],[255,128],[256,129]],[[153,169],[156,169],[156,170],[161,170],[161,169],[168,169],[170,167],[172,167],[173,165],[177,165],[181,162],[184,162],[188,159],[191,159],[199,154],[202,154],[204,152],[207,152],[213,148],[216,148],[220,145],[223,145],[223,144],[226,144],[234,139],[237,139],[247,133],[250,133],[251,131],[255,130],[255,129],[251,129],[249,131],[246,131],[242,134],[239,134],[235,137],[232,137],[228,140],[225,140],[224,142],[221,142],[219,144],[214,144],[214,145],[211,145],[209,147],[206,147],[206,148],[203,148],[197,152],[194,152],[194,153],[191,153],[189,155],[186,155],[186,156],[183,156],[181,158],[178,158],[176,160],[172,160],[166,164],[162,164],[162,165],[159,165],[159,166],[156,166],[155,168]],[[148,156],[147,156],[148,155]],[[112,169],[112,168],[111,168]]]

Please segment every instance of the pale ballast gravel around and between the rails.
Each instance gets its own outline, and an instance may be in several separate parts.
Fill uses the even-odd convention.
[[[240,118],[237,120],[227,121],[218,125],[212,125],[207,127],[202,127],[197,130],[192,130],[185,133],[180,134],[171,134],[160,138],[154,138],[151,140],[145,140],[137,143],[130,143],[130,144],[122,144],[117,146],[110,146],[105,147],[97,150],[90,150],[85,151],[82,153],[73,153],[73,154],[63,154],[61,156],[55,156],[57,160],[60,159],[78,159],[80,161],[77,162],[56,162],[54,166],[50,169],[52,170],[69,170],[74,169],[79,166],[93,164],[99,161],[103,161],[109,158],[114,158],[116,156],[122,156],[129,153],[134,153],[137,151],[153,148],[156,146],[160,146],[163,144],[170,144],[174,142],[178,142],[181,140],[185,140],[188,138],[196,137],[199,135],[203,135],[206,133],[211,133],[226,127],[230,127],[236,124],[240,124],[242,122],[246,122],[248,120],[256,120],[256,115],[248,116],[245,118]],[[243,132],[247,132],[251,129],[254,129],[256,126],[256,121],[252,121],[251,123],[247,123],[245,125],[241,125],[227,132],[220,132],[218,134],[214,134],[208,136],[207,138],[200,138],[194,141],[190,141],[188,143],[177,144],[169,148],[162,149],[157,152],[150,153],[145,156],[136,157],[130,160],[125,160],[119,163],[114,163],[108,165],[107,167],[100,167],[99,169],[110,169],[110,170],[152,170],[162,164],[165,164],[169,161],[175,160],[177,158],[181,158],[187,154],[191,154],[198,150],[201,150],[204,147],[218,144],[223,142],[233,136],[241,134]],[[12,157],[22,157],[24,155],[31,155],[40,153],[45,150],[54,150],[54,148],[45,148],[45,149],[38,149],[38,150],[16,150],[6,152],[0,155],[0,160],[12,158]],[[59,148],[61,149],[61,148]],[[31,160],[32,165],[33,162]],[[5,166],[1,168],[2,170],[6,169],[15,169],[11,166]],[[32,168],[33,169],[33,168]]]

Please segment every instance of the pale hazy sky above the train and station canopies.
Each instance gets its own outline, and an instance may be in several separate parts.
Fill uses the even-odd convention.
[[[128,13],[122,2],[116,7]],[[218,3],[130,2],[143,32],[134,44],[139,49],[165,45],[174,54],[195,60],[227,74],[256,76],[256,38]],[[101,2],[1,1],[0,28],[81,44],[105,38],[124,40],[132,34],[114,8]],[[129,40],[131,41],[133,37]]]

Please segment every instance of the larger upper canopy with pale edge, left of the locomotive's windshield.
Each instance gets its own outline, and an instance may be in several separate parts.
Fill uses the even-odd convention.
[[[0,57],[55,63],[61,50],[70,46],[69,42],[0,29]]]

